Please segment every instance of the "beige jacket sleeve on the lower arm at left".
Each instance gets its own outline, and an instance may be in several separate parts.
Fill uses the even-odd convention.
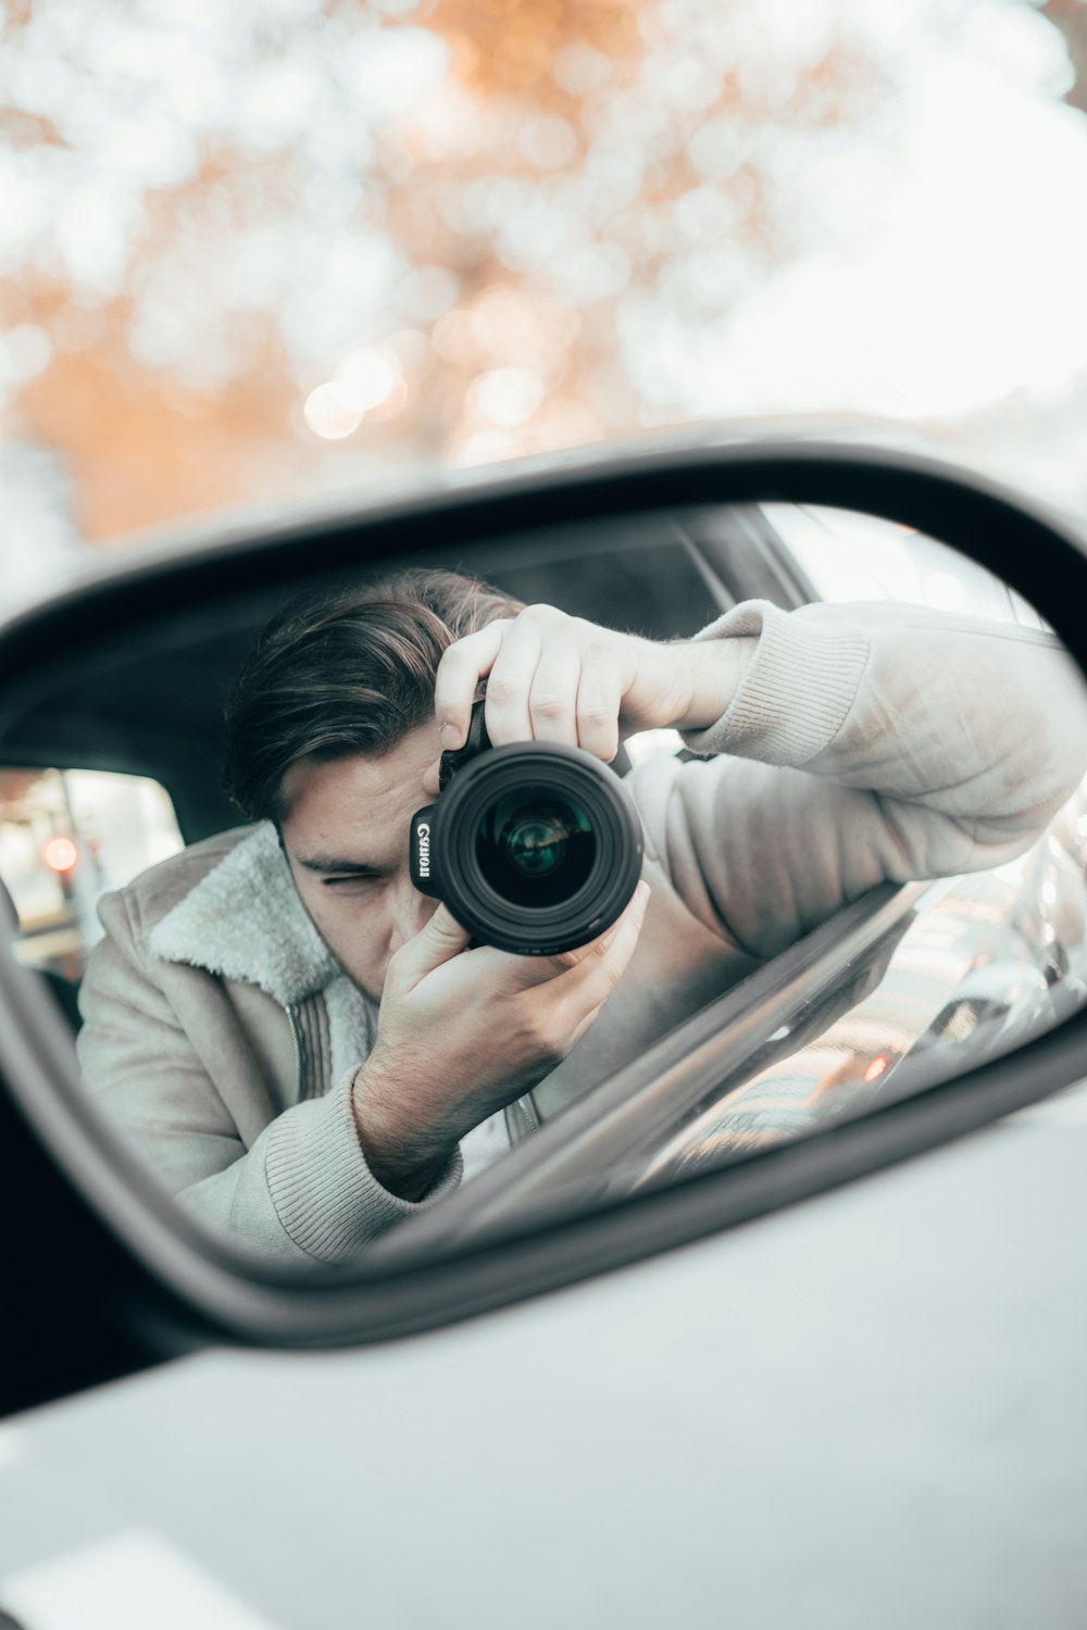
[[[220,1237],[262,1262],[339,1263],[456,1185],[460,1154],[419,1203],[376,1182],[352,1118],[354,1071],[275,1115],[217,981],[171,970],[171,1001],[125,893],[108,895],[99,914],[106,937],[80,991],[85,1087],[147,1170]],[[246,1105],[244,1130],[225,1081]]]

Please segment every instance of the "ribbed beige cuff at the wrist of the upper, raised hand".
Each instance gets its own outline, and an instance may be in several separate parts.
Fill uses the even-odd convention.
[[[764,764],[800,768],[834,740],[869,660],[859,623],[831,606],[782,611],[745,600],[696,639],[758,636],[740,688],[704,730],[686,730],[693,753],[735,753]]]

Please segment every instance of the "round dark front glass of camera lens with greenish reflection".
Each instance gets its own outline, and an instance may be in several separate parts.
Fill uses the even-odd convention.
[[[585,887],[596,859],[588,815],[546,787],[518,787],[482,815],[479,870],[510,905],[562,905]]]

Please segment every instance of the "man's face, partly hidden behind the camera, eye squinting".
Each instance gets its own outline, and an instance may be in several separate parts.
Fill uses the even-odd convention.
[[[301,760],[284,779],[284,848],[301,903],[373,998],[393,952],[437,910],[407,872],[407,830],[430,802],[422,778],[437,753],[437,730],[420,725],[383,758]]]

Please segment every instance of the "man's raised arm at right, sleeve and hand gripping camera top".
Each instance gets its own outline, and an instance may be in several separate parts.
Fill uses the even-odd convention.
[[[1087,768],[1087,691],[1056,639],[924,606],[745,601],[675,644],[530,606],[442,659],[445,747],[481,678],[495,745],[608,758],[670,725],[722,755],[631,784],[684,903],[756,957],[877,882],[1022,854]]]

